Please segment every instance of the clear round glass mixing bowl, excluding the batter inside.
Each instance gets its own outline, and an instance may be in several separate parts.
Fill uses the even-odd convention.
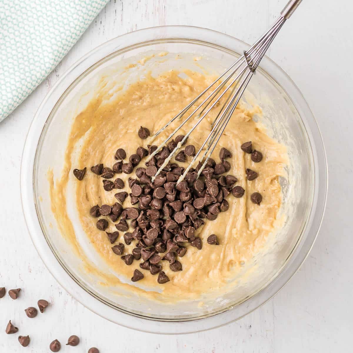
[[[285,225],[243,269],[238,285],[216,299],[173,305],[131,300],[122,290],[103,286],[98,273],[87,272],[73,256],[50,208],[47,172],[61,173],[74,116],[96,94],[102,76],[112,92],[122,83],[164,71],[189,68],[220,73],[249,46],[219,32],[186,26],[148,28],[102,44],[74,64],[55,84],[31,124],[21,167],[21,193],[32,241],[49,271],[80,303],[130,328],[154,333],[189,333],[228,324],[269,300],[298,270],[321,225],[327,191],[324,146],[315,118],[292,80],[265,57],[252,78],[245,101],[263,109],[270,136],[285,144],[291,160],[282,178]],[[163,55],[156,55],[163,53]],[[140,64],[127,69],[131,63]],[[197,60],[196,60],[197,58]],[[193,60],[195,59],[195,60]],[[260,119],[260,117],[258,117]],[[75,228],[87,259],[102,273],[104,262]],[[256,265],[251,276],[243,276]],[[147,324],[148,323],[148,324]]]

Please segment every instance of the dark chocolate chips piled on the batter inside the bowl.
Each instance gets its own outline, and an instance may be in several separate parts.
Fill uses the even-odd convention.
[[[138,136],[145,139],[150,132],[145,127],[140,127]],[[180,135],[164,146],[154,157],[145,162],[145,167],[138,167],[135,170],[136,178],[128,178],[128,186],[131,192],[117,192],[115,198],[119,201],[114,205],[95,205],[90,209],[93,217],[109,216],[115,223],[117,231],[106,232],[111,244],[114,244],[119,237],[119,231],[124,233],[124,242],[130,245],[134,242],[135,247],[132,253],[124,253],[124,244],[118,243],[112,247],[112,251],[121,256],[126,265],[131,265],[133,261],[142,261],[139,266],[143,270],[149,270],[152,275],[158,273],[157,282],[166,283],[168,276],[162,271],[161,261],[169,262],[172,271],[181,271],[180,262],[187,251],[186,243],[202,249],[202,240],[196,236],[196,230],[201,227],[206,220],[214,221],[220,212],[228,210],[227,196],[232,193],[234,197],[242,197],[245,190],[241,186],[234,186],[237,178],[233,175],[225,175],[231,164],[227,161],[232,157],[232,153],[226,148],[220,150],[220,161],[216,163],[209,158],[201,177],[197,178],[197,172],[202,164],[199,162],[196,169],[191,168],[183,181],[177,184],[180,175],[185,168],[177,163],[168,162],[160,174],[152,182],[152,177],[157,173],[170,152],[184,138]],[[184,142],[184,144],[186,141]],[[123,189],[124,181],[120,178],[114,181],[109,180],[115,174],[131,174],[141,159],[151,155],[157,146],[148,145],[148,149],[137,148],[136,154],[132,154],[128,162],[123,162],[126,158],[124,149],[119,148],[115,153],[117,162],[112,169],[97,164],[91,167],[91,171],[103,178],[103,188],[106,191],[113,189]],[[251,153],[254,162],[262,160],[262,154],[252,150],[252,143],[246,142],[241,146],[244,152]],[[175,160],[186,162],[187,157],[195,155],[195,146],[187,145],[181,150]],[[82,180],[86,168],[75,169],[74,175]],[[251,169],[246,169],[248,180],[257,178],[257,173]],[[130,197],[132,205],[135,207],[124,208],[123,204],[127,197]],[[259,193],[251,195],[254,203],[260,204],[262,197]],[[129,223],[127,222],[129,221]],[[105,231],[108,221],[101,218],[97,221],[97,228]],[[129,228],[132,232],[128,232]],[[217,236],[212,234],[208,237],[208,243],[218,245]],[[131,280],[133,282],[144,278],[139,270],[134,270]]]

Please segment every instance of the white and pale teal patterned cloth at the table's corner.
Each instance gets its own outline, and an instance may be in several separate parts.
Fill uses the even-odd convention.
[[[0,0],[0,121],[54,69],[108,0]]]

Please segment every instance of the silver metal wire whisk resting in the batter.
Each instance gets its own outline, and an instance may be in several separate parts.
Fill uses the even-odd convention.
[[[202,163],[202,166],[199,168],[197,173],[197,178],[200,176],[202,170],[207,164],[208,159],[210,158],[213,150],[215,149],[223,131],[225,130],[228,121],[231,119],[231,116],[237,107],[237,104],[240,101],[241,96],[243,95],[247,84],[249,83],[252,75],[255,73],[257,66],[259,65],[261,59],[265,55],[270,44],[276,37],[277,33],[286,22],[286,20],[291,17],[295,9],[300,4],[301,0],[290,0],[288,4],[281,11],[280,16],[275,20],[275,22],[270,26],[270,28],[253,44],[253,46],[244,51],[244,54],[234,62],[230,67],[227,68],[225,72],[221,74],[213,83],[211,83],[201,94],[199,94],[192,102],[190,102],[183,110],[181,110],[177,115],[174,116],[166,125],[164,125],[160,130],[158,130],[155,135],[156,137],[160,134],[166,127],[168,127],[175,119],[180,119],[187,113],[187,111],[197,103],[199,100],[202,101],[196,109],[177,127],[175,130],[168,136],[163,143],[161,143],[158,148],[150,155],[149,159],[153,158],[167,143],[168,141],[178,132],[178,130],[192,117],[197,114],[198,120],[196,124],[191,128],[191,130],[184,136],[184,138],[177,144],[177,146],[170,152],[169,156],[166,158],[164,163],[157,170],[156,175],[152,178],[154,181],[155,177],[162,171],[166,164],[173,157],[175,152],[184,144],[189,135],[196,129],[200,124],[203,118],[210,112],[210,110],[220,101],[220,99],[226,96],[225,103],[220,109],[220,112],[217,114],[216,118],[212,123],[212,129],[202,144],[201,148],[195,154],[195,157],[185,169],[184,173],[180,176],[177,183],[180,183],[185,178],[185,175],[189,172],[190,168],[194,165],[198,156],[201,152],[205,150],[202,157],[199,159],[199,162]],[[228,85],[226,86],[226,84]],[[216,85],[214,88],[213,86]],[[219,94],[219,92],[226,86],[225,90]],[[204,95],[207,95],[204,99]],[[218,95],[218,96],[217,96]]]

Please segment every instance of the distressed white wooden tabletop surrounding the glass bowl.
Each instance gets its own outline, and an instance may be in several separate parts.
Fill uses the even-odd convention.
[[[252,42],[285,0],[116,0],[83,34],[58,67],[0,123],[0,287],[23,288],[0,299],[0,352],[351,352],[352,335],[352,83],[351,2],[304,0],[269,50],[299,86],[323,134],[330,171],[328,204],[318,239],[300,271],[260,309],[226,327],[182,336],[138,333],[106,321],[68,295],[49,274],[30,241],[22,215],[19,173],[31,119],[56,80],[97,45],[157,25],[195,25]],[[337,4],[337,5],[336,5]],[[1,11],[1,10],[0,10]],[[342,64],[339,63],[342,62]],[[1,97],[0,97],[1,99]],[[35,319],[24,309],[40,298],[51,308]],[[9,319],[31,336],[22,348],[6,335]],[[64,346],[71,334],[80,346]]]

